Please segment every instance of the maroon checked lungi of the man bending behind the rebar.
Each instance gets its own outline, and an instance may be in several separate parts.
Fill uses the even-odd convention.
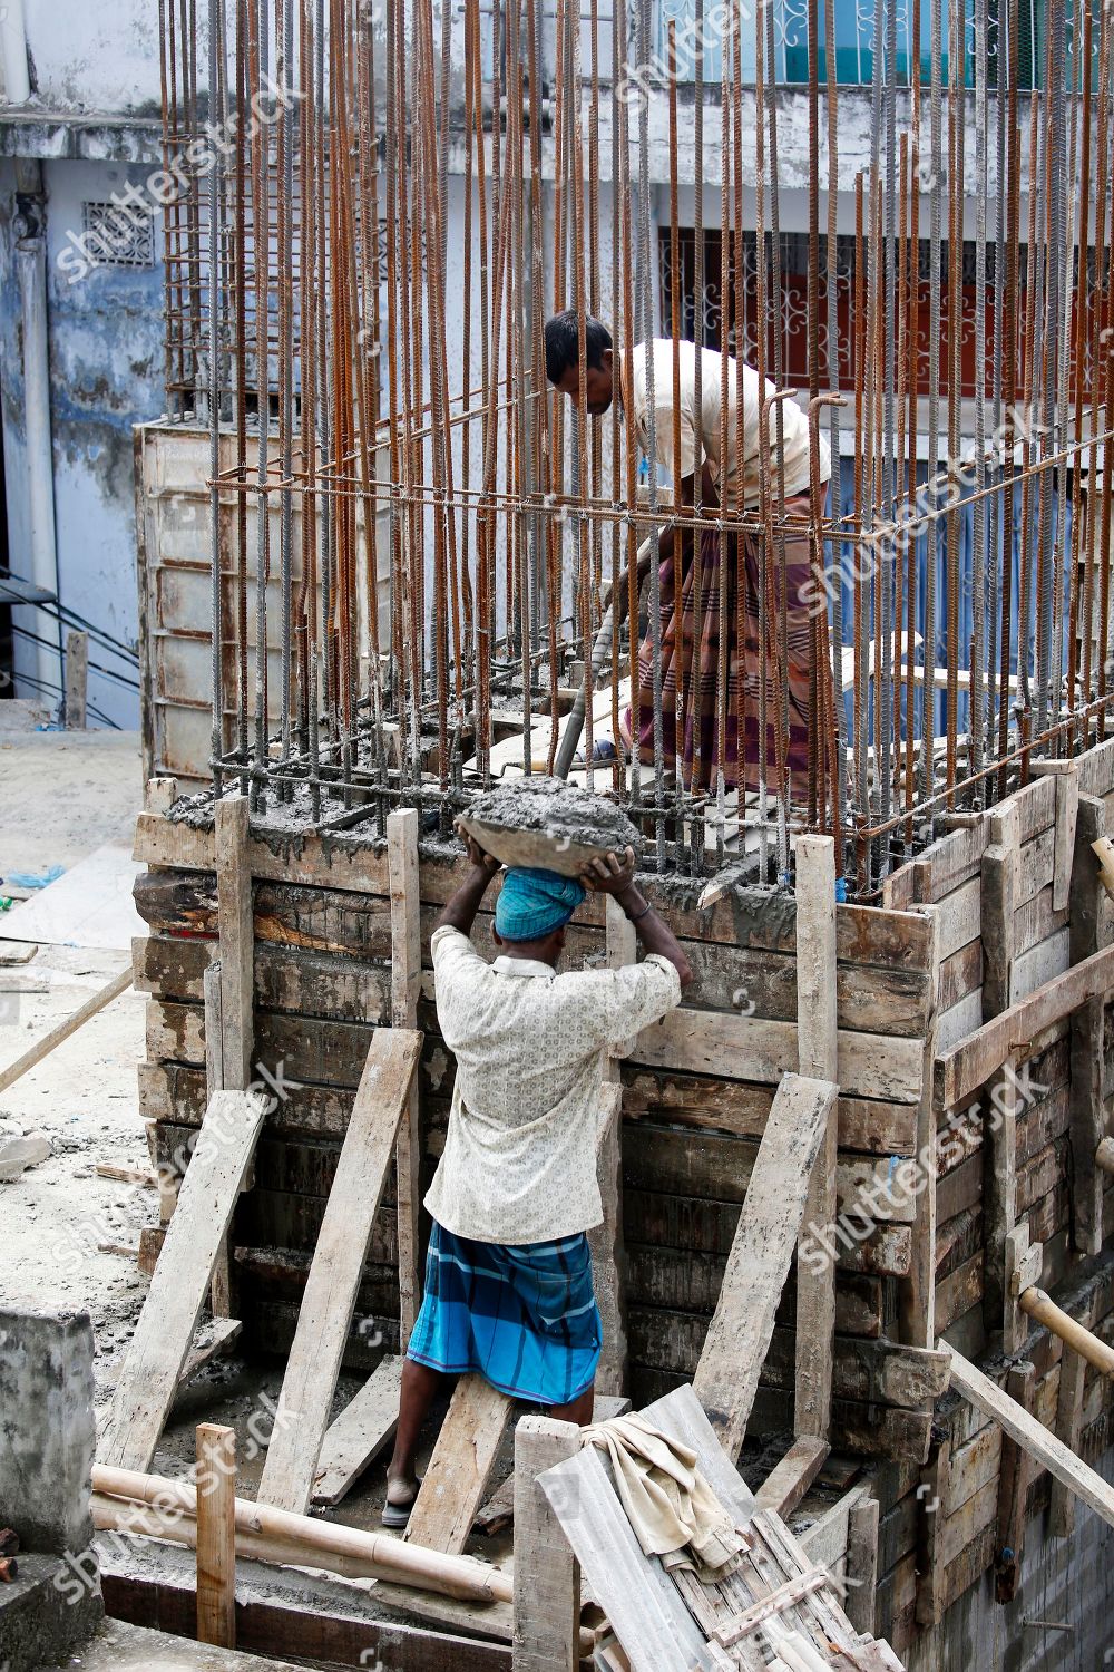
[[[827,493],[827,490],[825,490]],[[790,528],[783,537],[785,568],[775,577],[775,599],[768,600],[768,620],[778,619],[782,589],[785,589],[788,627],[788,714],[787,714],[787,772],[795,796],[803,794],[808,772],[808,681],[812,665],[812,620],[815,605],[808,580],[812,577],[812,552],[807,518],[812,515],[812,497],[795,493],[785,498],[787,518],[800,518],[800,530]],[[777,538],[780,568],[782,542]],[[738,560],[742,547],[742,563]],[[683,716],[680,772],[685,788],[705,789],[717,781],[720,739],[717,724],[717,669],[720,664],[720,614],[727,619],[727,714],[723,724],[723,777],[728,789],[738,788],[738,714],[740,714],[740,664],[743,712],[743,774],[745,789],[757,789],[760,781],[758,749],[758,694],[760,694],[760,565],[765,538],[758,532],[728,533],[727,553],[720,567],[720,533],[706,528],[700,540],[700,620],[696,619],[696,565],[691,553],[683,563],[681,597],[676,605],[675,560],[670,557],[658,570],[661,582],[661,737],[665,764],[678,766],[676,714],[678,682],[686,697]],[[740,597],[742,589],[742,597]],[[720,594],[725,594],[722,599]],[[742,644],[740,640],[742,615]],[[698,644],[693,669],[693,645]],[[646,637],[638,655],[638,744],[643,761],[653,762],[653,639]],[[767,655],[767,789],[777,793],[777,657]],[[825,670],[823,677],[830,679]],[[828,706],[830,712],[830,706]],[[696,759],[698,739],[698,759]],[[698,767],[698,771],[696,771]],[[800,789],[797,788],[800,784]]]

